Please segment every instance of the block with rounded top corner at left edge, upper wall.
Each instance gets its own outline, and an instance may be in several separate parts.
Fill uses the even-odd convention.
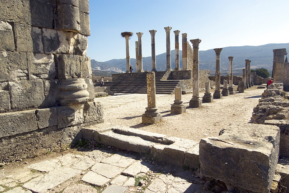
[[[14,36],[12,26],[0,20],[0,50],[1,51],[14,51]]]

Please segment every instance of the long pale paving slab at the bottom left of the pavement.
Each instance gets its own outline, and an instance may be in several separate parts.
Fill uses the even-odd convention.
[[[81,173],[81,170],[63,166],[49,171],[47,175],[38,176],[30,180],[29,182],[23,184],[23,187],[32,190],[35,193],[42,193],[79,173]]]

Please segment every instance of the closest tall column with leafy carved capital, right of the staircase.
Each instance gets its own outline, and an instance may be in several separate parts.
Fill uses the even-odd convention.
[[[193,96],[189,106],[196,108],[202,106],[202,100],[199,96],[199,43],[201,43],[201,40],[191,39],[190,42],[193,44]]]

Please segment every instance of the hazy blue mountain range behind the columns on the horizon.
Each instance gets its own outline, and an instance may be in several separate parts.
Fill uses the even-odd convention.
[[[266,68],[272,71],[273,49],[286,48],[289,51],[289,43],[270,43],[262,46],[231,46],[223,48],[220,60],[221,71],[229,69],[228,56],[234,56],[233,69],[241,70],[245,67],[245,59],[251,60],[251,69]],[[216,54],[214,49],[199,51],[199,69],[215,71]],[[130,59],[131,65],[136,70],[136,59]],[[151,56],[142,58],[143,69],[151,71]],[[106,62],[91,60],[92,69],[122,73],[126,71],[126,59],[112,59]],[[175,50],[171,51],[171,67],[175,68]],[[156,56],[157,71],[166,70],[166,53]],[[182,68],[182,51],[180,50],[180,68]]]

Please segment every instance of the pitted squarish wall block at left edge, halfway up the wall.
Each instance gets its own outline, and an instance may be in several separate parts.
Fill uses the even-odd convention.
[[[0,82],[27,79],[27,54],[0,51]]]

